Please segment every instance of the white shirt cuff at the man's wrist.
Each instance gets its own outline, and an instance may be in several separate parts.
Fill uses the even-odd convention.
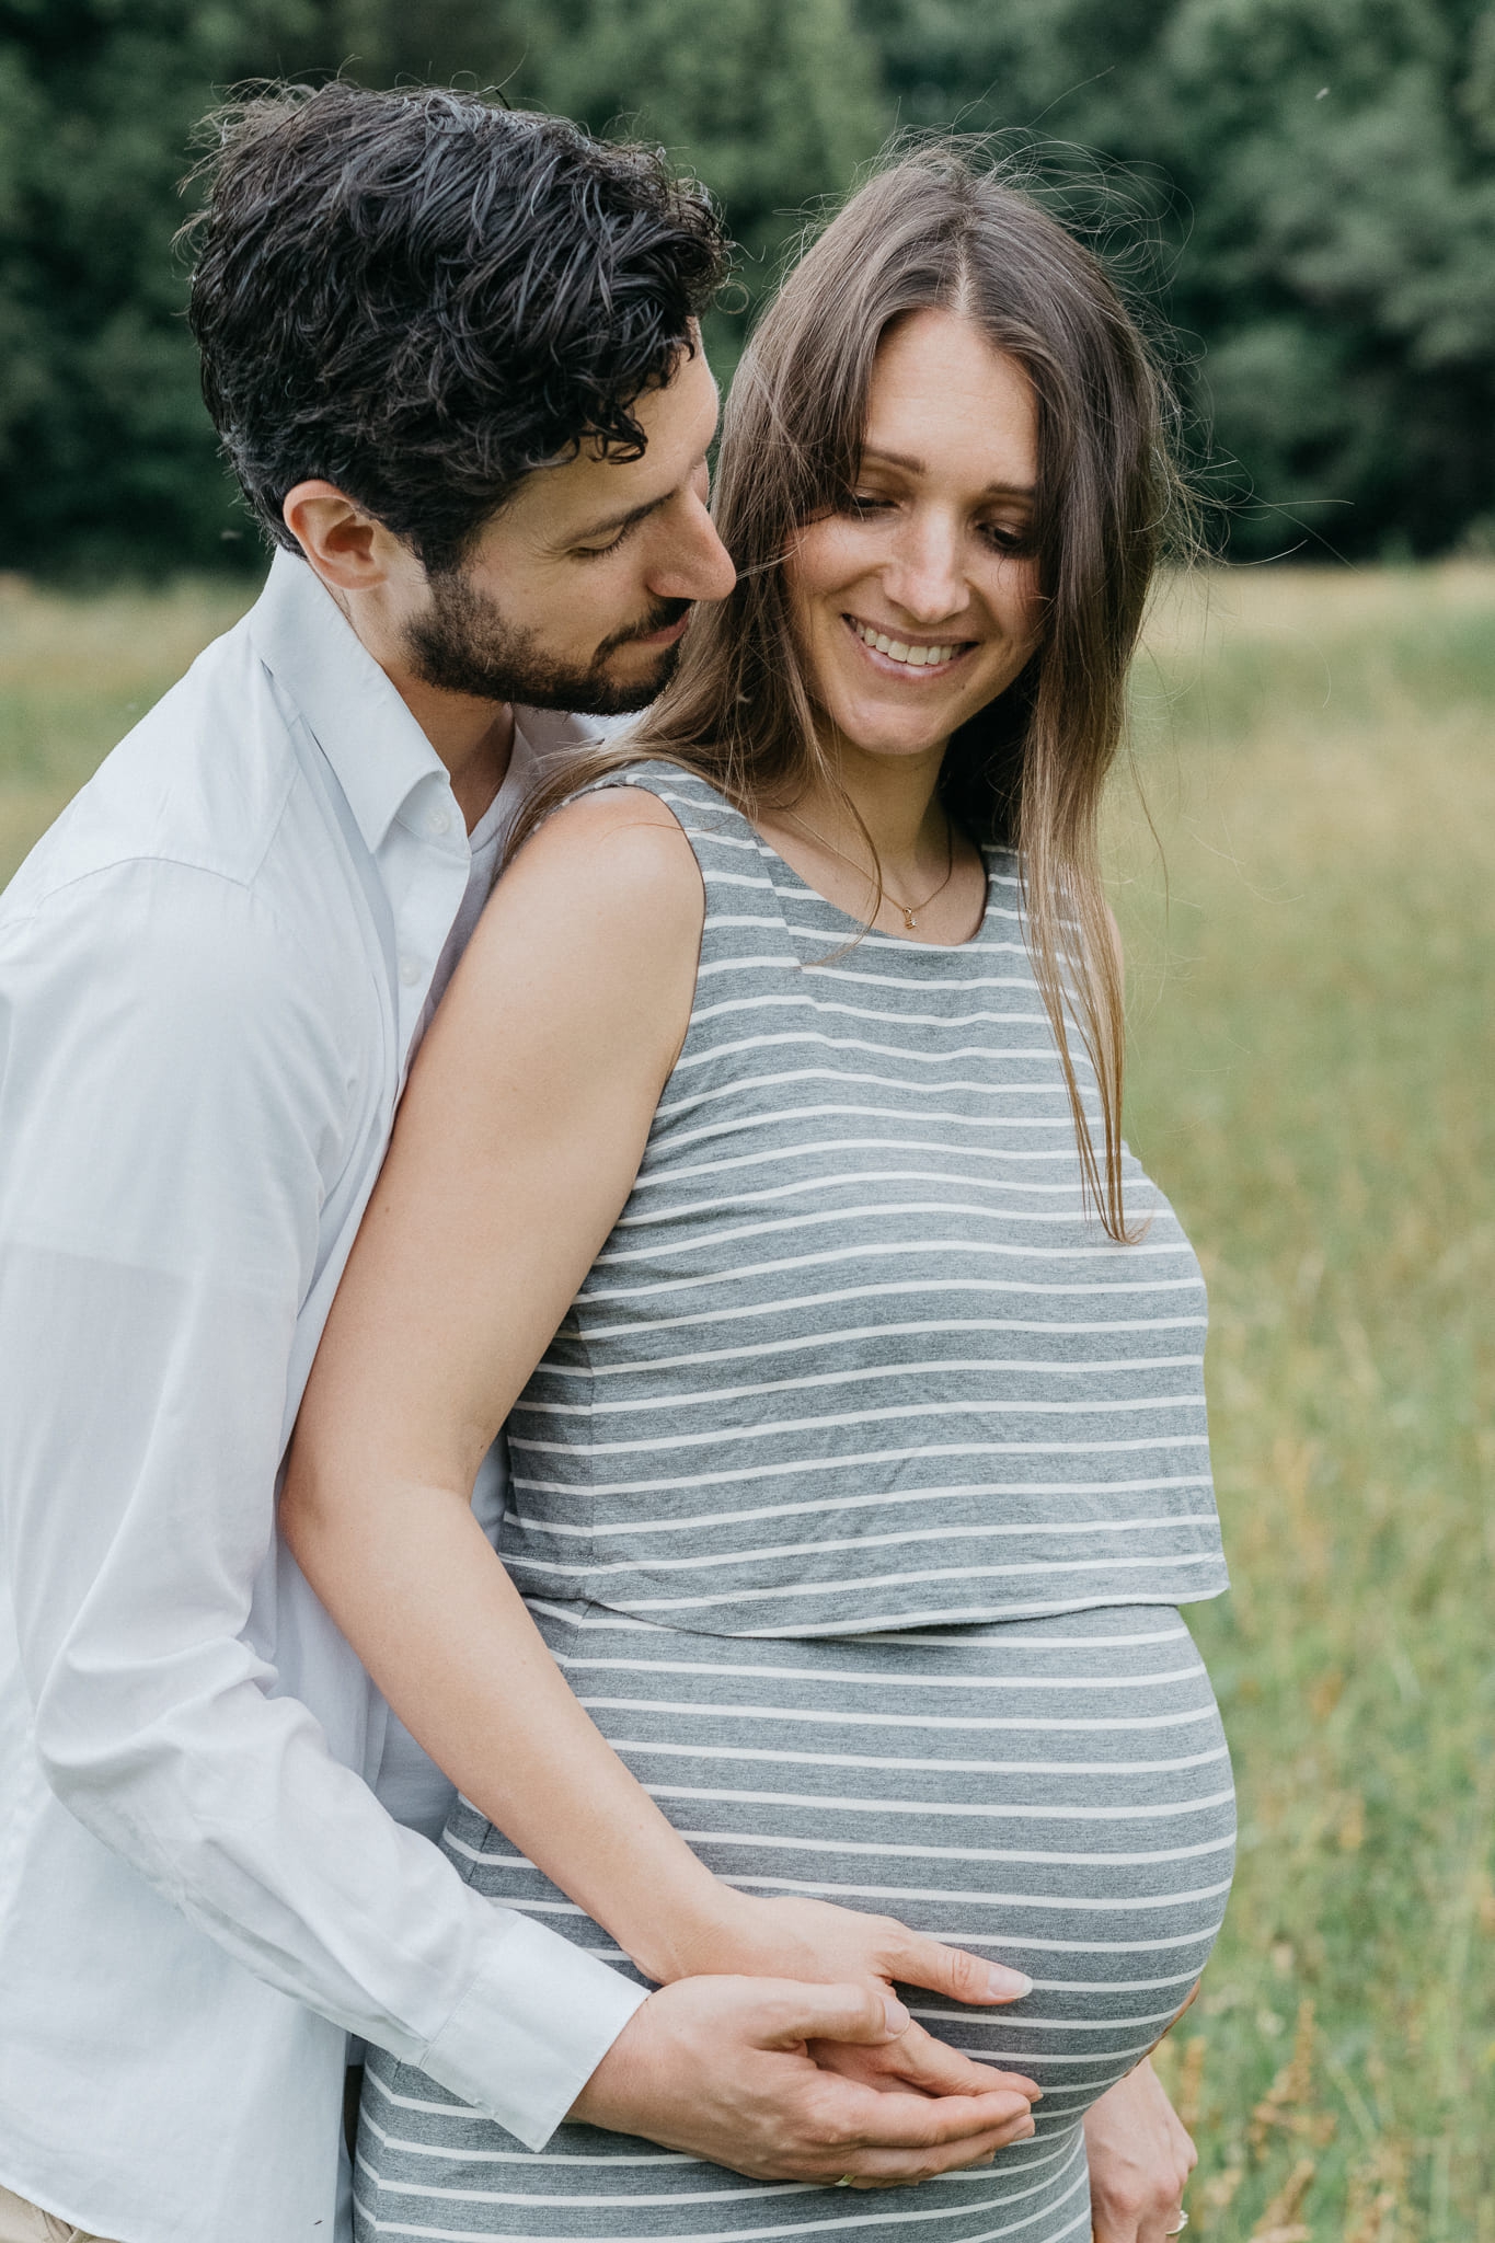
[[[509,1918],[421,2070],[545,2149],[650,1987],[527,1916]]]

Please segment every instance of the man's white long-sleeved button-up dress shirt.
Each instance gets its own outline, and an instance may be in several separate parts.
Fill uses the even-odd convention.
[[[471,875],[280,554],[0,899],[0,2180],[119,2243],[329,2243],[350,2032],[540,2147],[641,2001],[381,1806],[451,1792],[273,1532]]]

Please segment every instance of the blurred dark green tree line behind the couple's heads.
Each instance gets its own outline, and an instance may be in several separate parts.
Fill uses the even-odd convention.
[[[256,559],[177,179],[215,90],[338,67],[663,141],[742,244],[722,366],[890,130],[1006,135],[1143,244],[1233,552],[1491,543],[1495,0],[0,0],[0,567]]]

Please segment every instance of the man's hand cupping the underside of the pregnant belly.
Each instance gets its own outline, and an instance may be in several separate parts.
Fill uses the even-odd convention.
[[[811,2041],[885,2048],[908,2028],[908,2010],[872,1985],[681,1978],[632,2014],[572,2117],[749,2180],[829,2187],[852,2173],[863,2189],[986,2164],[1033,2131],[1029,2095],[1015,2086],[879,2090],[809,2055]]]

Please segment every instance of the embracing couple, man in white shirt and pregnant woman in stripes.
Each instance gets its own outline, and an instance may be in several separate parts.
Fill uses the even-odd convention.
[[[708,509],[659,159],[329,85],[211,173],[269,583],[0,906],[0,2239],[1157,2243],[1233,1799],[1096,870],[1148,352],[912,157]]]

